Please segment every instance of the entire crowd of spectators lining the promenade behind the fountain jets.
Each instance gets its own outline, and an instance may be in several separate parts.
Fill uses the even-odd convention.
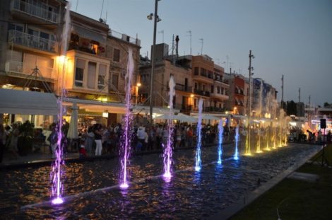
[[[64,124],[66,125],[66,124]],[[66,143],[64,146],[64,152],[68,149],[68,144],[71,144],[70,139],[66,138],[66,130],[68,126],[63,126],[63,140],[61,143]],[[56,157],[56,151],[58,147],[58,125],[53,123],[49,125],[51,130],[50,134],[45,137],[42,129],[35,129],[33,139],[45,143],[48,141],[49,154],[52,154],[52,158]],[[270,129],[271,130],[271,129]],[[172,125],[171,136],[169,135],[170,129],[166,123],[157,123],[154,125],[133,125],[130,129],[130,143],[131,151],[158,151],[163,146],[167,145],[167,141],[170,139],[173,143],[173,147],[185,148],[196,146],[197,136],[196,125],[175,124]],[[254,127],[251,129],[251,141],[261,137],[265,137],[266,129]],[[271,130],[272,132],[272,130]],[[290,129],[289,140],[292,141],[309,141],[312,143],[319,143],[322,141],[324,135],[321,132],[310,132],[309,130],[305,134],[301,129],[292,128]],[[121,123],[112,124],[109,126],[95,124],[85,129],[82,129],[78,139],[78,152],[80,157],[86,156],[102,156],[107,154],[118,154],[121,144],[124,142],[122,139],[124,129]],[[271,133],[272,134],[272,133]],[[170,136],[170,137],[169,137]],[[244,140],[247,136],[247,129],[239,127],[239,139]],[[20,137],[20,131],[18,124],[13,123],[11,126],[0,125],[0,163],[4,156],[4,151],[8,152],[8,155],[15,159],[20,155],[18,149],[18,137]],[[235,139],[235,127],[223,127],[223,142],[234,141]],[[327,141],[331,141],[331,132],[326,135]],[[218,125],[202,125],[201,127],[201,144],[206,146],[208,144],[216,144],[218,141]],[[261,139],[263,141],[263,139]],[[243,142],[243,141],[242,141]],[[36,149],[37,151],[38,149]]]

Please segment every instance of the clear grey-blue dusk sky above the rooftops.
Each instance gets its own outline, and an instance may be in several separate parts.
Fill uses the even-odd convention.
[[[78,1],[78,4],[77,4]],[[141,40],[141,54],[150,57],[153,44],[154,0],[71,0],[71,10],[98,20],[106,18],[112,30]],[[77,6],[77,10],[76,10]],[[249,76],[249,50],[254,77],[270,83],[284,100],[323,105],[332,103],[332,1],[331,0],[161,0],[158,2],[157,43],[172,47],[179,35],[179,55],[213,58],[229,72]],[[228,58],[228,59],[227,59]],[[225,63],[224,63],[225,62]]]

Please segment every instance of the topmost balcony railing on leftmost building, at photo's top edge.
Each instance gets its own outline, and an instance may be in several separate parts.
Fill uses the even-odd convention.
[[[11,1],[11,11],[20,11],[27,13],[30,16],[35,16],[52,23],[57,23],[59,19],[59,13],[54,13],[48,11],[40,6],[34,6],[26,1],[12,0]]]

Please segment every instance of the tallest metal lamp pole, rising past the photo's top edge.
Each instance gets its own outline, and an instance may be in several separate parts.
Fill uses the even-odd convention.
[[[158,0],[155,0],[155,14],[153,21],[153,48],[151,56],[151,75],[150,75],[150,123],[153,123],[153,74],[155,72],[155,37],[157,31],[157,19],[158,19]]]

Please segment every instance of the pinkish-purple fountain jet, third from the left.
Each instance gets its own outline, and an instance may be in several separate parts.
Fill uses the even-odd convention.
[[[168,118],[168,138],[167,138],[167,145],[163,145],[163,154],[162,158],[164,161],[164,174],[162,175],[165,180],[170,180],[172,178],[172,144],[173,144],[173,97],[175,95],[175,83],[173,76],[170,76],[170,117]]]

